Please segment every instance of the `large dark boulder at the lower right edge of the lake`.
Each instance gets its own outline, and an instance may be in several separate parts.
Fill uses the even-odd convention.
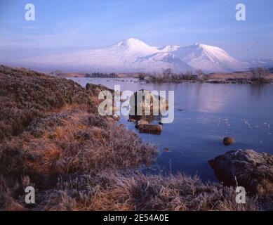
[[[255,150],[231,150],[210,160],[215,176],[227,186],[243,186],[250,193],[273,194],[273,155]],[[236,179],[235,179],[236,177]]]

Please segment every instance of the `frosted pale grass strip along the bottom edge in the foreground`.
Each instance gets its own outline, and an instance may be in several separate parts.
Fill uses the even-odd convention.
[[[235,202],[234,188],[204,184],[197,177],[114,174],[60,181],[39,210],[259,210],[258,198]]]

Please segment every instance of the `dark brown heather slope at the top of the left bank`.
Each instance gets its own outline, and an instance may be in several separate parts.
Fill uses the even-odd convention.
[[[0,141],[21,134],[36,117],[72,103],[96,109],[79,84],[0,65]]]

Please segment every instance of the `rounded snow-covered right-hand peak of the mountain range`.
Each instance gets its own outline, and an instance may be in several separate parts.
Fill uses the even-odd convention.
[[[224,50],[205,44],[193,44],[192,46],[180,47],[172,51],[194,69],[205,72],[229,72],[248,68],[246,63],[232,58]]]

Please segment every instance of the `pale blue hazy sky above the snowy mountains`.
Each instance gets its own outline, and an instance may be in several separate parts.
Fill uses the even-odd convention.
[[[36,20],[25,20],[25,4]],[[246,5],[246,21],[235,6]],[[0,63],[109,46],[135,37],[154,46],[196,42],[239,60],[273,58],[273,1],[0,0]]]

